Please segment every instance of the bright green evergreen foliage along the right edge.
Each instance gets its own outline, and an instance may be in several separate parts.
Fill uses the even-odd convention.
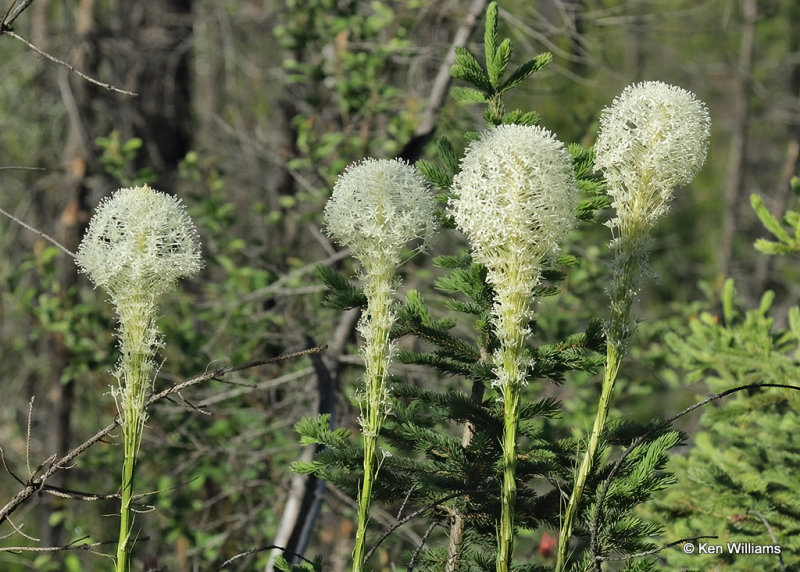
[[[797,178],[792,189],[795,194],[800,191]],[[768,254],[796,252],[797,214],[788,211],[783,217],[794,235],[790,236],[758,196],[751,197],[751,204],[778,239],[759,239],[756,248]],[[670,566],[744,571],[793,570],[800,565],[800,486],[795,478],[800,463],[800,391],[786,389],[786,384],[800,387],[800,308],[792,307],[787,326],[776,328],[769,315],[773,299],[767,291],[757,308],[742,310],[729,279],[721,316],[704,311],[689,324],[685,337],[672,334],[667,339],[675,366],[686,372],[688,383],[702,380],[712,392],[756,386],[706,409],[691,450],[670,463],[680,475],[678,486],[653,510],[667,523],[666,538],[708,535],[714,538],[702,542],[724,547],[719,554],[696,550],[690,556],[665,551]],[[784,387],[758,387],[763,384]],[[779,552],[774,552],[776,546]]]

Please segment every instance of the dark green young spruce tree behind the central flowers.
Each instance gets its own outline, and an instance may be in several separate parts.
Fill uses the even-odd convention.
[[[454,88],[456,99],[483,103],[490,125],[536,124],[538,115],[514,110],[506,113],[503,94],[532,75],[549,61],[540,56],[523,64],[502,82],[510,61],[511,45],[497,43],[496,4],[487,10],[484,42],[486,67],[466,50],[457,52],[451,73],[469,84]],[[466,134],[467,139],[474,137]],[[417,167],[429,183],[441,189],[442,200],[459,172],[459,157],[446,138],[436,144],[438,162],[420,161]],[[573,170],[582,191],[575,209],[576,218],[593,219],[596,211],[609,204],[603,194],[605,184],[593,171],[593,153],[579,145],[569,147]],[[442,215],[443,227],[452,220]],[[556,295],[558,282],[565,277],[561,268],[579,263],[570,254],[550,260],[542,270],[542,282],[535,287],[537,297]],[[424,517],[435,528],[445,529],[447,546],[428,537],[426,550],[417,547],[410,560],[427,570],[486,570],[495,559],[496,526],[500,518],[500,491],[503,477],[501,438],[503,406],[491,387],[495,381],[490,356],[499,345],[491,311],[495,293],[487,282],[487,269],[473,262],[469,254],[439,256],[434,265],[447,270],[436,281],[436,288],[447,298],[447,314],[436,317],[423,296],[411,290],[397,307],[397,322],[392,338],[413,337],[421,349],[400,351],[397,359],[421,366],[439,379],[463,378],[458,387],[433,390],[401,378],[390,384],[391,408],[381,437],[388,447],[380,459],[375,499],[396,505],[404,499],[401,512]],[[342,276],[320,269],[318,277],[328,287],[327,305],[346,309],[362,306],[363,295]],[[457,327],[461,325],[461,327]],[[468,326],[468,327],[464,327]],[[537,331],[536,318],[530,327]],[[466,336],[461,332],[471,332]],[[569,372],[594,374],[603,364],[605,352],[600,319],[590,320],[583,331],[564,339],[546,341],[546,332],[531,345],[530,365],[525,372],[530,387],[537,390],[544,380],[561,383]],[[532,383],[540,380],[538,384]],[[560,418],[560,407],[552,398],[535,398],[526,393],[519,421],[517,448],[517,499],[515,525],[527,530],[557,530],[565,494],[571,488],[572,467],[582,454],[579,443]],[[459,435],[459,427],[461,428]],[[349,494],[355,494],[360,480],[362,450],[343,430],[332,431],[327,417],[304,420],[297,425],[304,443],[319,443],[324,449],[310,463],[295,463],[294,470],[325,478]],[[653,569],[653,559],[633,559],[631,555],[653,551],[648,540],[659,527],[635,514],[635,508],[673,480],[664,467],[667,452],[681,441],[681,435],[660,423],[639,426],[617,421],[602,436],[596,469],[586,485],[587,501],[579,513],[576,536],[585,541],[576,547],[582,553],[575,569],[594,569],[603,559],[630,559],[627,570]],[[619,462],[607,459],[612,447],[632,446]],[[603,488],[605,487],[605,488]],[[398,517],[397,526],[406,522]],[[381,542],[391,530],[382,536]],[[441,535],[440,535],[441,536]],[[455,539],[455,541],[454,541]],[[591,550],[586,550],[590,548]],[[540,564],[514,563],[515,570],[546,569]]]

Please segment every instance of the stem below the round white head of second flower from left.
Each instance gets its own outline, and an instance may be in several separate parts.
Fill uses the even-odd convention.
[[[365,265],[366,266],[366,265]],[[362,433],[364,442],[364,477],[358,496],[358,527],[353,549],[353,572],[364,569],[367,524],[372,504],[372,486],[377,478],[378,435],[386,418],[386,377],[391,361],[392,346],[389,332],[394,323],[392,313],[391,281],[394,267],[378,264],[375,271],[366,272],[364,294],[368,300],[366,315],[360,326],[364,337],[365,391],[362,405]]]

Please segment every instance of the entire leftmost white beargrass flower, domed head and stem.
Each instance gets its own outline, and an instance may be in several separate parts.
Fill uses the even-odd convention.
[[[145,404],[161,346],[159,298],[202,268],[200,241],[181,201],[148,186],[120,189],[100,203],[78,248],[78,267],[108,292],[119,319],[114,376],[123,463],[116,571],[130,570],[136,459],[147,421]]]

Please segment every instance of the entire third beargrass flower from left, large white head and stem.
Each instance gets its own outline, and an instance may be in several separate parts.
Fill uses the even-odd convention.
[[[507,572],[514,552],[517,430],[520,400],[531,365],[527,341],[533,291],[542,259],[574,221],[577,188],[563,143],[541,127],[501,125],[470,144],[453,180],[450,209],[469,239],[473,258],[487,268],[495,291],[499,341],[494,385],[503,400],[503,488],[496,569]]]

